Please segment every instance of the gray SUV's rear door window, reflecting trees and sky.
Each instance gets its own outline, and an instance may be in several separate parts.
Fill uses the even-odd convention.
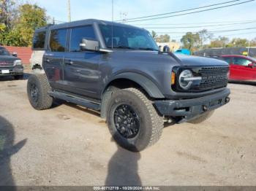
[[[67,29],[50,31],[50,50],[53,52],[65,52]]]

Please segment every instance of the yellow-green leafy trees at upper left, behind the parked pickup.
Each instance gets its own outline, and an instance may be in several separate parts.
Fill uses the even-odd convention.
[[[2,7],[0,9],[3,15],[4,9]],[[0,44],[29,47],[32,43],[34,30],[47,24],[46,11],[36,4],[23,4],[13,12],[16,12],[16,17],[0,20]],[[10,14],[10,12],[7,13],[7,15]]]

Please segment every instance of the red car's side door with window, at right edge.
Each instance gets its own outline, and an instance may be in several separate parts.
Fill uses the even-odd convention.
[[[232,72],[233,79],[236,80],[253,80],[256,76],[256,70],[248,65],[253,63],[251,60],[240,57],[233,57]]]

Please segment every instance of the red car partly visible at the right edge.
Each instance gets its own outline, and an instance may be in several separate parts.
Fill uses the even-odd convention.
[[[244,55],[222,55],[230,64],[229,79],[236,81],[256,82],[256,59]]]

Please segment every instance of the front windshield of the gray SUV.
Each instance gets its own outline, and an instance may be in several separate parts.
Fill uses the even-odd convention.
[[[99,25],[107,47],[134,49],[134,50],[158,50],[148,31],[139,28],[124,26]],[[113,40],[112,36],[113,28]]]

